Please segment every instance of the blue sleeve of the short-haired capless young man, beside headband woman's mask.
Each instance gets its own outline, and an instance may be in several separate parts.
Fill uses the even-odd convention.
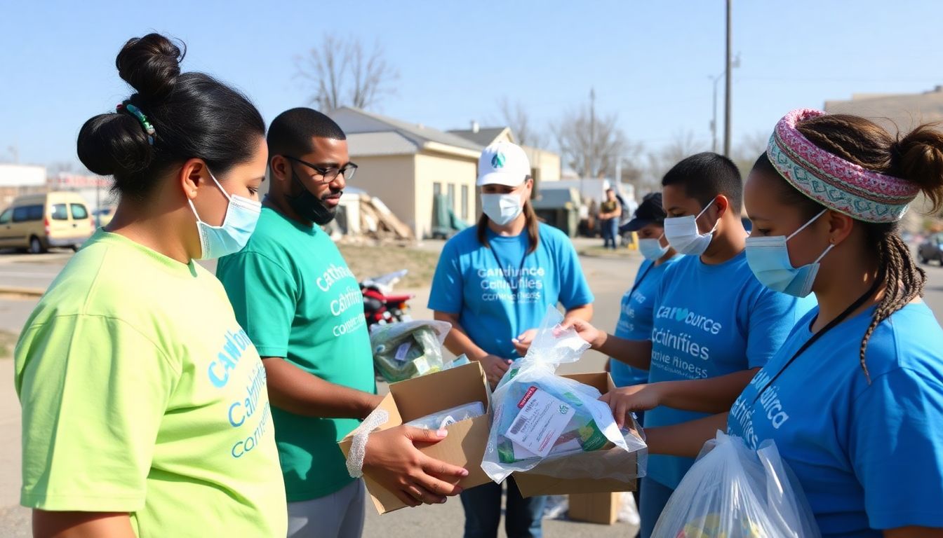
[[[759,283],[755,283],[760,285]],[[795,297],[763,287],[744,313],[747,322],[747,364],[750,368],[766,366],[786,342],[796,321],[804,314],[797,309]]]

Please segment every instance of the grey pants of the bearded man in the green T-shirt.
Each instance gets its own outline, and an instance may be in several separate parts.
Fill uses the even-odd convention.
[[[367,493],[355,481],[337,493],[289,503],[289,538],[360,538]]]

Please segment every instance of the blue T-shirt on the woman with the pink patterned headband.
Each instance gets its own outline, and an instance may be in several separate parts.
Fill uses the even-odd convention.
[[[772,439],[802,484],[822,535],[865,537],[910,525],[943,527],[943,330],[923,303],[877,326],[874,309],[819,337],[818,308],[736,399],[728,432],[755,448]]]

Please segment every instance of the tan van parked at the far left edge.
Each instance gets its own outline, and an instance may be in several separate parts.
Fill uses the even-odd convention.
[[[94,230],[88,204],[80,194],[28,194],[13,200],[0,213],[0,249],[30,253],[43,253],[51,247],[78,250]]]

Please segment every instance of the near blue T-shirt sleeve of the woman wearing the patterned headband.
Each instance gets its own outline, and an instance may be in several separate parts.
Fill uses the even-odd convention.
[[[849,455],[870,526],[943,527],[943,384],[894,369],[853,409]]]

